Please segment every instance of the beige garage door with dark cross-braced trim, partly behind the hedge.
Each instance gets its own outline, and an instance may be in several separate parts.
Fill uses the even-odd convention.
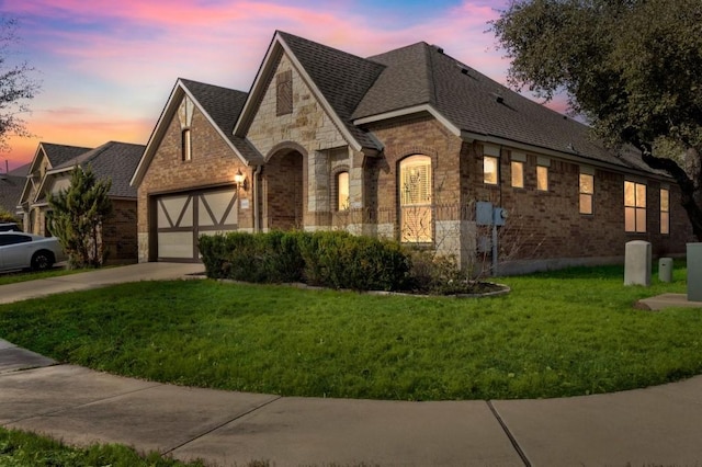
[[[200,261],[201,235],[236,230],[236,189],[163,195],[156,198],[159,261]]]

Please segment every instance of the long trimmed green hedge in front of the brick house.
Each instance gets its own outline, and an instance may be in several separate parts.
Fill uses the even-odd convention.
[[[230,232],[202,236],[199,247],[208,277],[257,283],[400,291],[411,266],[398,242],[343,231]]]

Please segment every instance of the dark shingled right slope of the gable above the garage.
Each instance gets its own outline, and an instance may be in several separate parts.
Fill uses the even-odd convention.
[[[248,94],[234,89],[206,84],[181,78],[180,81],[200,103],[203,111],[219,127],[245,159],[261,163],[261,155],[245,138],[234,135],[234,125],[244,109]]]

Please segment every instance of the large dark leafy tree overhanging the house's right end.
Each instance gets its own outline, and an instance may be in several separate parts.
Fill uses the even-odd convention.
[[[597,137],[669,173],[702,241],[700,0],[514,0],[491,29],[510,84],[565,91]]]

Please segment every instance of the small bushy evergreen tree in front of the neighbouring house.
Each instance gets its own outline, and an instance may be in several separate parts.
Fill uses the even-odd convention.
[[[92,168],[76,167],[70,185],[49,194],[50,228],[58,237],[72,267],[99,267],[105,259],[102,224],[112,215],[109,197],[112,181],[95,180]]]

